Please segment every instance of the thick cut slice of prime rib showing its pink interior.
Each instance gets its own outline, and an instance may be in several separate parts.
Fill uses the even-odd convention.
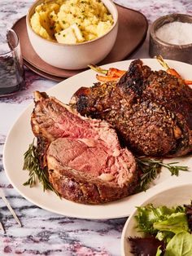
[[[35,92],[31,117],[41,167],[64,198],[85,204],[114,201],[133,193],[136,162],[121,148],[107,121],[82,117],[46,93]]]

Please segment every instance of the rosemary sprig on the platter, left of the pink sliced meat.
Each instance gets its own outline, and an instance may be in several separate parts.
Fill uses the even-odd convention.
[[[28,180],[24,183],[24,186],[30,186],[32,188],[36,185],[37,181],[39,181],[43,186],[43,191],[51,190],[55,192],[57,195],[59,193],[55,191],[50,184],[50,181],[47,177],[47,170],[44,168],[41,169],[40,161],[39,161],[39,152],[37,147],[33,143],[29,144],[28,150],[24,153],[24,167],[23,170],[28,170]]]

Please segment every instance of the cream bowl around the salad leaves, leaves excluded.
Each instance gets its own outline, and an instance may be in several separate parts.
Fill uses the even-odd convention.
[[[168,207],[187,204],[190,205],[192,200],[192,182],[181,183],[176,187],[164,189],[161,192],[157,192],[155,195],[148,198],[142,203],[142,205],[153,204],[155,206],[167,205]],[[141,206],[141,205],[135,205]],[[128,220],[124,224],[124,229],[121,236],[121,255],[133,256],[130,253],[130,246],[127,238],[129,236],[142,236],[140,232],[137,232],[135,226],[136,221],[134,216],[137,215],[137,209],[130,214]]]

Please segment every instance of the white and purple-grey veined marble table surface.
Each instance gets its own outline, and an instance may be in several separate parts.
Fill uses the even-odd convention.
[[[11,28],[25,15],[33,0],[0,0],[1,29]],[[192,15],[191,0],[116,0],[125,7],[141,11],[149,24],[160,15],[178,12]],[[148,35],[142,47],[131,56],[149,58]],[[3,146],[8,130],[23,109],[33,101],[33,90],[48,90],[56,82],[25,71],[26,85],[20,93],[0,98],[0,188],[3,188],[23,227],[19,227],[0,199],[0,255],[120,255],[120,236],[126,218],[89,220],[68,218],[42,210],[28,202],[11,186],[2,165]],[[1,81],[0,81],[1,82]],[[19,147],[19,145],[18,145]],[[15,148],[16,150],[16,148]],[[15,170],[16,171],[16,170]]]

